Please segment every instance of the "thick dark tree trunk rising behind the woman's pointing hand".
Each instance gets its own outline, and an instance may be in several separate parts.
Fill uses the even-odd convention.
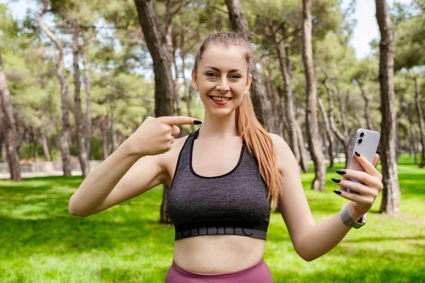
[[[139,23],[142,26],[147,47],[152,56],[155,74],[155,116],[174,115],[173,96],[174,81],[171,75],[171,60],[167,50],[164,33],[159,26],[159,19],[154,10],[153,0],[135,0]],[[169,187],[164,185],[162,196],[161,219],[162,223],[171,223],[167,211]]]

